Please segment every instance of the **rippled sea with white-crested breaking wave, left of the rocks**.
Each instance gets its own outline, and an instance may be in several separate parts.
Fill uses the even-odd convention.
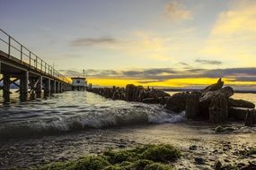
[[[184,114],[177,115],[160,105],[111,100],[86,91],[25,102],[13,96],[11,103],[0,109],[0,139],[184,120]]]

